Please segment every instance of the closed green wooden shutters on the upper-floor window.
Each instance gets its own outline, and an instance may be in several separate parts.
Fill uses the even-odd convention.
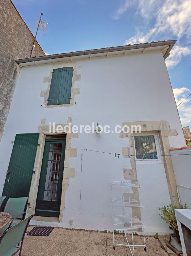
[[[73,69],[53,69],[48,105],[70,104]]]

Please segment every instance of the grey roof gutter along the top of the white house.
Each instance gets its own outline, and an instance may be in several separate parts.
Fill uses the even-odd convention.
[[[47,55],[47,56],[26,58],[26,59],[15,60],[15,62],[19,64],[19,63],[26,63],[31,61],[43,61],[43,60],[58,59],[58,58],[64,58],[64,57],[82,56],[82,55],[96,54],[96,53],[103,53],[103,52],[116,52],[116,51],[165,46],[165,45],[169,46],[166,53],[164,54],[164,59],[166,59],[170,55],[170,50],[172,49],[175,43],[176,43],[176,40],[172,40],[172,41],[168,40],[168,41],[159,41],[159,42],[151,42],[151,43],[123,45],[123,46],[117,46],[117,47],[107,47],[107,48],[93,49],[93,50],[87,50],[87,51],[66,52],[66,53],[53,54],[53,55]]]

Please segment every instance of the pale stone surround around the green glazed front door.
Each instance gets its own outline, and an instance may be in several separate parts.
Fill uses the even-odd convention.
[[[71,121],[71,117],[68,118],[68,122]],[[64,129],[64,126],[67,124],[56,124],[55,129],[58,125],[61,125]],[[52,125],[53,130],[53,125]],[[37,147],[36,150],[36,158],[34,163],[34,168],[32,175],[32,181],[31,181],[31,187],[29,191],[29,198],[28,198],[28,209],[27,209],[27,215],[30,216],[31,214],[35,213],[35,207],[36,207],[36,198],[38,193],[38,186],[40,181],[40,171],[41,171],[41,165],[42,165],[42,159],[43,159],[43,153],[44,153],[44,146],[45,146],[45,138],[46,135],[58,135],[58,134],[66,134],[66,150],[65,150],[65,158],[64,158],[64,173],[63,173],[63,181],[62,181],[62,195],[61,195],[61,205],[60,205],[60,216],[59,216],[59,222],[62,221],[63,217],[63,210],[65,209],[65,195],[66,190],[68,189],[69,185],[69,179],[73,179],[75,176],[75,168],[69,167],[69,160],[70,157],[77,157],[77,148],[71,148],[71,139],[78,138],[77,133],[49,133],[49,125],[39,125],[38,127],[39,132],[39,140],[38,144],[40,146]]]

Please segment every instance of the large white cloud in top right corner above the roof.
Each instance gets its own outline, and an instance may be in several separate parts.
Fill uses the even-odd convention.
[[[138,2],[136,6],[139,15],[148,20],[154,17],[156,19],[155,24],[146,34],[138,32],[133,37],[137,43],[145,43],[145,38],[152,39],[161,33],[166,33],[168,36],[176,35],[178,39],[183,35],[191,38],[190,0],[133,1],[134,4],[136,2]],[[128,8],[129,6],[125,8],[125,11]]]

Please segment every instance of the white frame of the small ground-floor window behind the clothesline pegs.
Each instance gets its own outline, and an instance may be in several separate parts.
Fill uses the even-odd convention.
[[[136,156],[136,148],[135,148],[135,139],[134,137],[135,136],[149,136],[149,135],[153,135],[154,136],[154,139],[155,139],[155,146],[156,146],[156,152],[157,152],[157,159],[137,159],[137,156]],[[159,141],[159,133],[158,132],[141,132],[141,133],[134,133],[133,134],[133,141],[134,141],[134,151],[135,151],[135,160],[136,160],[136,163],[159,163],[161,164],[162,163],[162,156],[158,156],[158,155],[162,155],[161,153],[161,146],[160,146],[160,141]]]

